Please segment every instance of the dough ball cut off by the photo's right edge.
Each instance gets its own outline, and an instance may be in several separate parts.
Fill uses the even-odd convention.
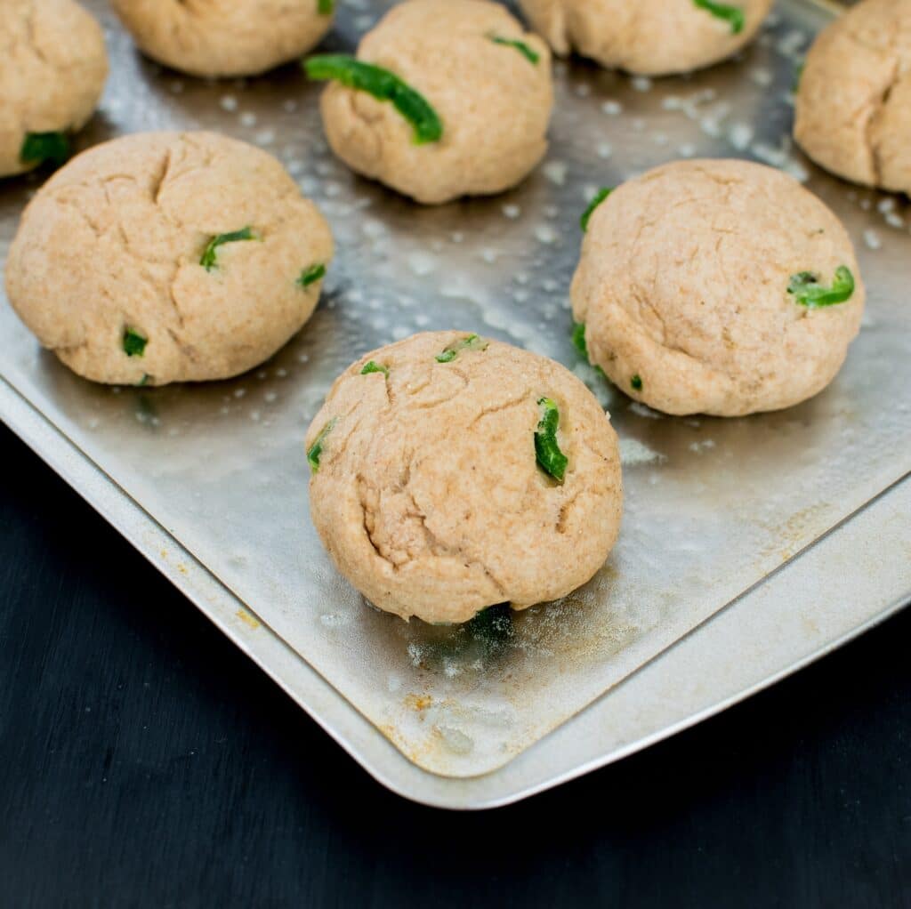
[[[911,194],[911,0],[864,0],[816,38],[794,137],[840,177]]]

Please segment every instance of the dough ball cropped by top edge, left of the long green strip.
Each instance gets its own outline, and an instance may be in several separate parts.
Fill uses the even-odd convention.
[[[333,24],[320,0],[111,0],[139,49],[190,76],[256,76],[305,54]]]

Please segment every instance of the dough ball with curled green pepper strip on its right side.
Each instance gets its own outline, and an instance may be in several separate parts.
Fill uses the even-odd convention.
[[[812,307],[813,281],[848,301]],[[844,272],[842,272],[844,275]],[[813,277],[814,276],[814,277]],[[779,170],[679,161],[616,189],[589,220],[570,291],[589,358],[666,414],[740,416],[804,401],[832,382],[864,310],[851,240]]]

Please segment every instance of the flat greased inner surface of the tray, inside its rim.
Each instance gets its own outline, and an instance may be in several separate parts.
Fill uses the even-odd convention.
[[[492,771],[864,506],[911,468],[911,236],[903,202],[814,169],[788,138],[790,89],[814,29],[782,4],[742,58],[650,81],[558,63],[545,164],[494,199],[422,209],[353,177],[322,139],[294,67],[204,82],[136,56],[106,5],[112,77],[85,144],[210,128],[268,148],[338,242],[319,310],[237,380],[158,390],[85,383],[4,306],[0,374],[410,760]],[[352,48],[388,3],[343,4],[328,46]],[[569,342],[578,215],[599,185],[680,157],[756,158],[805,179],[843,218],[869,302],[834,385],[780,414],[671,419],[631,403]],[[0,185],[0,259],[37,179]],[[783,217],[786,213],[783,213]],[[482,332],[575,369],[621,438],[619,545],[587,587],[471,631],[374,612],[336,575],[307,517],[306,425],[363,352],[425,329]],[[167,554],[164,554],[167,556]]]

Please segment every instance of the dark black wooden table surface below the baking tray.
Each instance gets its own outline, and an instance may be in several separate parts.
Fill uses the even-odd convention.
[[[619,765],[438,812],[0,445],[0,905],[911,906],[911,610]]]

